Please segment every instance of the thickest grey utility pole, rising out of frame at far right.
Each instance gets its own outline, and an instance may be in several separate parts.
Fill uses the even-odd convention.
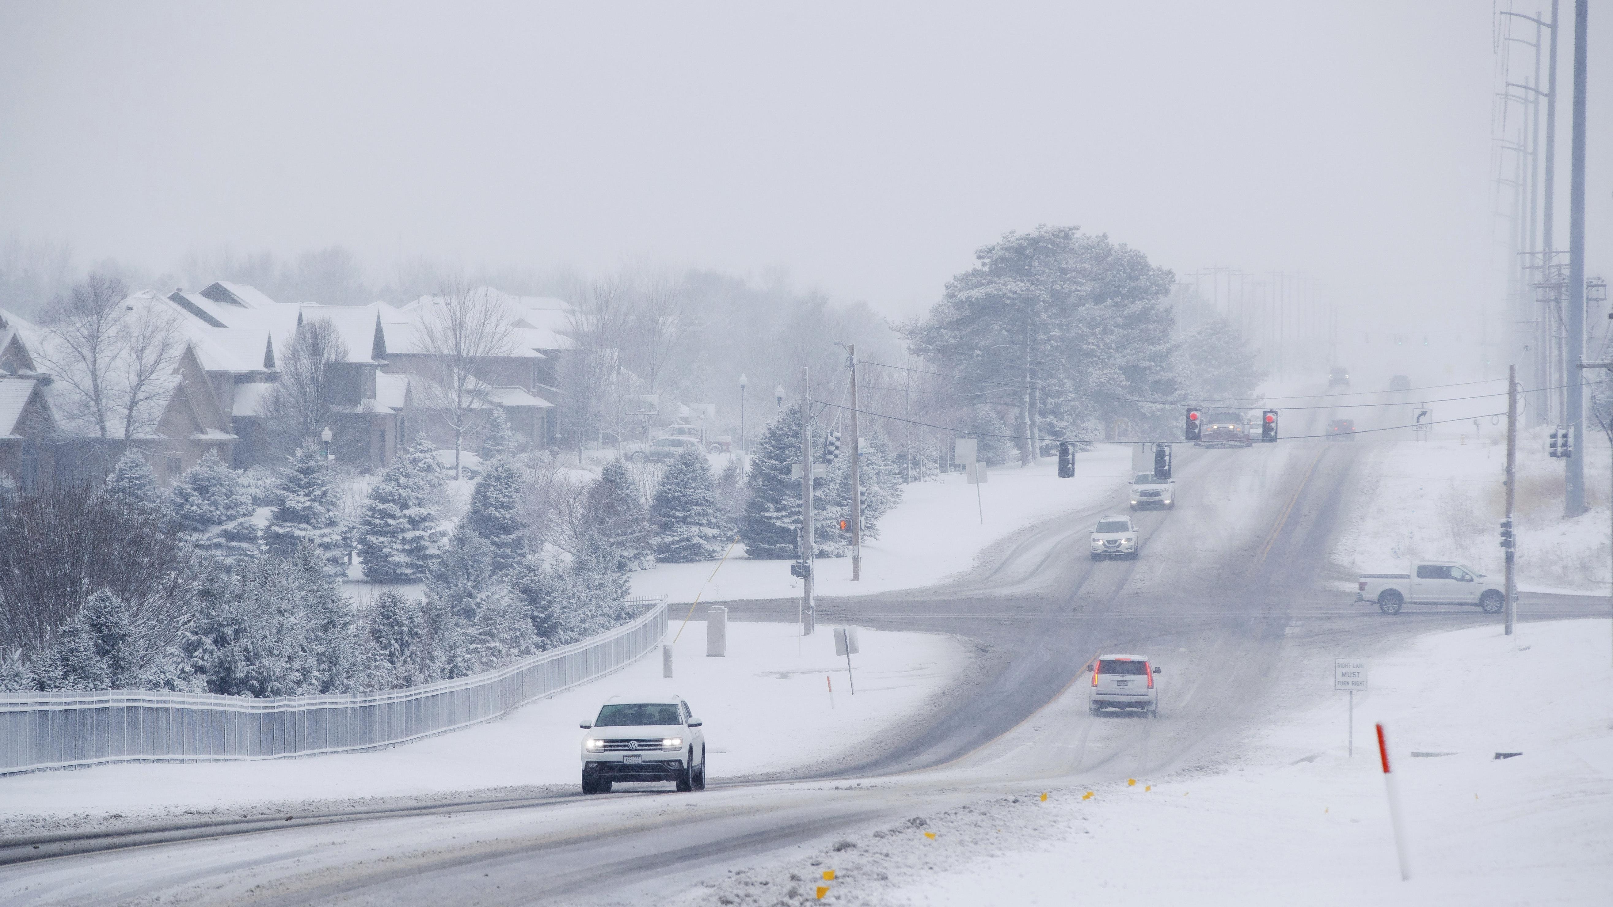
[[[1586,358],[1586,21],[1589,0],[1574,0],[1574,137],[1569,150],[1568,186],[1568,349],[1563,376],[1568,384],[1568,412],[1563,420],[1574,436],[1579,457],[1563,460],[1563,515],[1586,512],[1586,391],[1579,363]]]

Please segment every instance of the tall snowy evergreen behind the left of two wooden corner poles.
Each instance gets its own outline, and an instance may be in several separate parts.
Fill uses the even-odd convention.
[[[813,437],[821,437],[815,431]],[[813,447],[819,449],[819,441]],[[802,412],[787,407],[779,418],[761,433],[756,454],[745,476],[748,497],[745,518],[739,526],[739,541],[753,558],[779,560],[800,557],[798,531],[802,525],[802,481],[790,476],[790,465],[802,460]],[[845,554],[844,541],[837,537],[839,520],[834,502],[829,500],[831,478],[813,479],[813,554],[836,557]],[[827,507],[816,507],[826,500]]]

